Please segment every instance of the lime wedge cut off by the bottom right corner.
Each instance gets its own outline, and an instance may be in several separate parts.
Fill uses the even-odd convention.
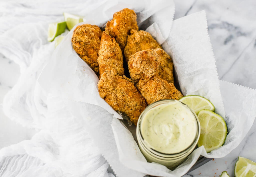
[[[234,173],[236,177],[256,176],[256,163],[244,157],[238,157]]]

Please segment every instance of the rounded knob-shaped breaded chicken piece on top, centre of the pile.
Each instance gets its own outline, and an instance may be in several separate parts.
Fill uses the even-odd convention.
[[[142,50],[129,58],[128,68],[134,81],[151,78],[158,72],[160,56],[154,49]]]

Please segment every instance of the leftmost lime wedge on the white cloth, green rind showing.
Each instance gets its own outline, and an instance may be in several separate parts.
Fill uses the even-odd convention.
[[[66,29],[66,22],[57,22],[57,23],[50,23],[48,26],[48,41],[53,41],[54,38],[61,33],[63,33]]]

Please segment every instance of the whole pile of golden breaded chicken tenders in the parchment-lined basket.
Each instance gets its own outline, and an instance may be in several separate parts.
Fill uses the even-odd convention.
[[[138,31],[136,18],[133,10],[125,8],[115,12],[105,31],[83,24],[71,39],[73,49],[99,76],[100,96],[135,125],[147,105],[183,96],[173,84],[171,57],[150,33]],[[124,75],[123,62],[131,79]]]

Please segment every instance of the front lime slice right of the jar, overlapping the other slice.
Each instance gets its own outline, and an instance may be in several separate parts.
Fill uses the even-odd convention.
[[[225,120],[218,114],[204,109],[197,115],[201,133],[198,140],[198,147],[204,146],[207,153],[222,146],[227,137],[227,125]]]

